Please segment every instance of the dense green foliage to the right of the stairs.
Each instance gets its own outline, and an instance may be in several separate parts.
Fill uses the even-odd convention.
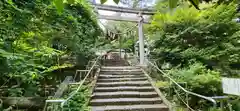
[[[240,72],[240,25],[233,21],[235,16],[234,3],[202,11],[181,6],[158,13],[148,32],[155,41],[152,57],[162,68],[167,64],[172,77],[186,82],[190,91],[221,96],[220,77],[239,77]],[[206,108],[199,98],[190,97],[189,103]]]

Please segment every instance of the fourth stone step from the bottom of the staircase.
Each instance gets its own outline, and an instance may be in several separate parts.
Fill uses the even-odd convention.
[[[155,91],[153,87],[134,87],[134,86],[120,86],[120,87],[96,87],[96,92],[114,92],[114,91]]]

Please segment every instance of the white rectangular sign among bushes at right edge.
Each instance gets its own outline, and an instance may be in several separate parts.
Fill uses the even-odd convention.
[[[222,87],[225,94],[240,95],[240,79],[222,78]]]

